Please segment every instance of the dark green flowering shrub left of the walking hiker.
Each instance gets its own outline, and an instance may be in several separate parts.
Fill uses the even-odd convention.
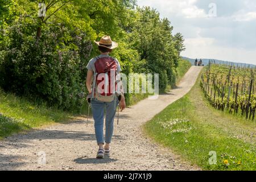
[[[90,55],[90,42],[64,25],[45,27],[37,42],[37,27],[31,22],[20,18],[9,28],[9,42],[0,51],[0,86],[61,109],[79,109],[85,96],[84,60]]]

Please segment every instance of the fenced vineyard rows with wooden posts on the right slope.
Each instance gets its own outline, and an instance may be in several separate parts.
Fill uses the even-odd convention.
[[[216,109],[254,120],[255,73],[255,68],[209,64],[201,77],[201,88]]]

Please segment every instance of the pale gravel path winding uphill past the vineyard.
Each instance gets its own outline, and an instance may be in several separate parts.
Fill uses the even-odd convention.
[[[146,138],[141,126],[166,106],[183,97],[201,71],[191,67],[177,89],[143,100],[120,114],[110,156],[95,159],[93,120],[86,118],[17,134],[0,141],[1,170],[195,170],[167,148]],[[46,158],[44,158],[46,156]],[[46,159],[46,160],[44,160]]]

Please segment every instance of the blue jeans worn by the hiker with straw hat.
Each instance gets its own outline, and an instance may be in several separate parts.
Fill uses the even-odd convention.
[[[103,126],[104,126],[104,110],[106,108],[106,121],[105,121],[105,142],[110,143],[114,130],[114,117],[115,111],[118,105],[118,99],[115,97],[112,102],[102,102],[98,101],[96,98],[92,98],[92,113],[94,119],[94,129],[96,134],[97,143],[104,144],[104,134],[103,134]]]

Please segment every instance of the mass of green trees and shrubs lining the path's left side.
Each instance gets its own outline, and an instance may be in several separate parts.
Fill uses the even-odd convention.
[[[1,1],[1,0],[0,0]],[[183,38],[172,36],[156,10],[135,9],[135,0],[8,0],[0,31],[0,86],[8,92],[61,109],[84,105],[86,64],[98,55],[93,40],[110,35],[122,71],[159,73],[160,89],[176,81]],[[1,1],[2,2],[2,1]],[[8,17],[8,18],[7,18]],[[133,94],[126,94],[127,102]]]

